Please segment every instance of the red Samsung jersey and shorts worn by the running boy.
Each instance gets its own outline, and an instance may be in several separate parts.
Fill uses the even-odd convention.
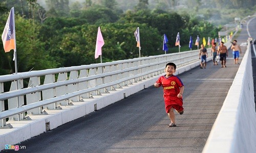
[[[183,101],[182,97],[179,98],[178,94],[180,93],[180,87],[184,86],[179,77],[172,75],[169,78],[161,76],[157,82],[163,87],[163,97],[165,103],[165,111],[168,113],[170,108],[174,108],[178,111],[183,110]]]

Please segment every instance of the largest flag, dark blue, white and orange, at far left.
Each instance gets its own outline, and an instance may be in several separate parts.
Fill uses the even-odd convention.
[[[16,49],[14,8],[11,8],[9,17],[5,24],[5,29],[2,34],[2,41],[3,41],[5,52],[10,52],[11,49]]]

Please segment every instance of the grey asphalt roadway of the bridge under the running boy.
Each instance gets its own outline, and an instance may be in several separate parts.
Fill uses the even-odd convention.
[[[242,43],[247,38],[243,29],[236,39]],[[26,146],[19,151],[201,152],[239,68],[230,50],[226,66],[209,61],[206,69],[196,67],[178,75],[185,90],[184,114],[176,113],[177,127],[167,127],[162,88],[152,86],[19,143]]]

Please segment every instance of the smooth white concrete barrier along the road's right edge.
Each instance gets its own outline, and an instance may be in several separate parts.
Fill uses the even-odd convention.
[[[251,46],[212,126],[203,152],[256,152],[256,113],[251,64]]]

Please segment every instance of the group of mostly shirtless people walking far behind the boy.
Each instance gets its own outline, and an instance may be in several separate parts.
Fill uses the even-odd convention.
[[[231,49],[233,50],[233,58],[234,58],[234,64],[239,64],[239,53],[242,54],[241,47],[237,43],[237,40],[233,40]],[[221,67],[227,67],[226,66],[226,58],[228,57],[228,49],[224,45],[224,42],[221,42],[220,46],[216,46],[216,42],[212,44],[211,52],[212,61],[214,62],[214,65],[218,65],[217,57],[221,61]],[[201,44],[201,48],[199,50],[199,59],[201,60],[200,68],[206,68],[206,58],[208,57],[207,49],[204,47],[203,44]]]

